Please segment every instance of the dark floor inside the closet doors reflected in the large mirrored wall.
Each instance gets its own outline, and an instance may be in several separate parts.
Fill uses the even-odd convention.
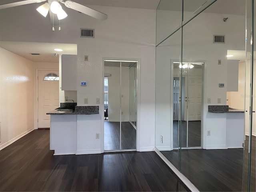
[[[173,121],[173,147],[178,147],[178,121]],[[182,147],[187,146],[187,122],[182,121]],[[188,147],[201,146],[201,121],[188,121]]]

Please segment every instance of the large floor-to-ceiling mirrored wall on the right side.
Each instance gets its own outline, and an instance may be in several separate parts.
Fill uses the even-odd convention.
[[[156,14],[157,150],[200,191],[255,191],[255,0]]]

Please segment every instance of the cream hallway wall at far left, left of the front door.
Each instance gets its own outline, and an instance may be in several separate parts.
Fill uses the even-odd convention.
[[[0,48],[0,149],[34,130],[34,63]]]

